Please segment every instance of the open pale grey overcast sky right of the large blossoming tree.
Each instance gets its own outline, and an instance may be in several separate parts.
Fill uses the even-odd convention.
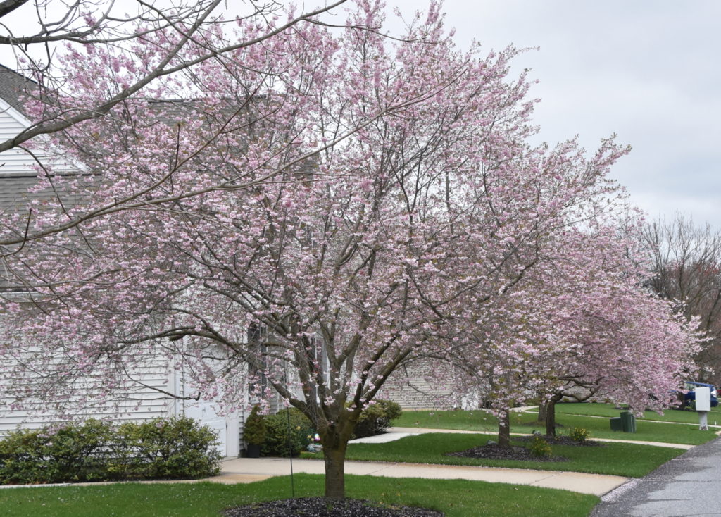
[[[413,0],[388,0],[412,12]],[[617,133],[614,167],[650,218],[681,211],[721,230],[721,1],[446,0],[462,47],[539,47],[517,58],[538,79],[549,143],[586,149]]]

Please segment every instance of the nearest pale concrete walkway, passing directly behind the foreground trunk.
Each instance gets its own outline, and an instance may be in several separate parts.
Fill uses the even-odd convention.
[[[223,473],[208,481],[244,483],[291,474],[291,462],[281,458],[238,458],[224,461]],[[293,459],[293,472],[323,474],[319,459]],[[583,494],[603,495],[629,479],[620,476],[557,472],[552,470],[498,469],[493,467],[457,467],[381,461],[346,461],[346,474],[380,477],[421,477],[431,480],[472,480],[533,487],[559,488]]]

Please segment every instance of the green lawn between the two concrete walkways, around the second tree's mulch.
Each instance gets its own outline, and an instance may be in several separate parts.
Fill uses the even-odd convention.
[[[516,469],[566,470],[642,477],[684,451],[678,448],[607,443],[605,446],[552,446],[554,456],[569,461],[514,461],[446,456],[449,452],[485,445],[489,437],[470,434],[428,433],[389,443],[350,443],[347,459],[405,461],[448,465],[480,465]],[[523,445],[518,442],[514,445]],[[526,443],[527,444],[527,443]],[[630,460],[632,458],[632,460]]]

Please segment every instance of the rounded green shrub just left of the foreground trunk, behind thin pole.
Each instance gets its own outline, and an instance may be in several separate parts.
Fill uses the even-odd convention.
[[[290,453],[298,456],[310,443],[308,436],[315,433],[308,417],[291,407],[275,415],[265,415],[265,441],[260,446],[261,456],[288,456],[288,428],[290,428]],[[290,425],[288,424],[290,420]]]

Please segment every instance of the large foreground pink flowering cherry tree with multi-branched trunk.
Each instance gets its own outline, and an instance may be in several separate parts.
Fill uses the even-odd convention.
[[[267,386],[317,428],[326,496],[342,498],[348,439],[394,370],[461,345],[457,322],[510,311],[568,214],[618,194],[606,174],[625,149],[613,141],[588,159],[573,142],[528,144],[515,50],[457,50],[435,2],[389,41],[359,28],[382,27],[382,5],[357,4],[345,28],[296,24],[200,60],[43,144],[81,174],[40,169],[38,192],[58,195],[32,206],[28,231],[74,224],[6,257],[27,291],[5,304],[8,393],[28,394],[12,379],[32,368],[32,389],[58,402],[92,376],[109,397],[157,354],[227,407]],[[182,59],[203,55],[205,37],[262,27],[237,30],[198,32]],[[71,98],[29,110],[92,106],[97,89],[132,83],[181,36],[154,37],[137,60],[69,53],[68,70],[82,62],[92,81],[71,73]],[[521,357],[523,343],[498,354]]]

